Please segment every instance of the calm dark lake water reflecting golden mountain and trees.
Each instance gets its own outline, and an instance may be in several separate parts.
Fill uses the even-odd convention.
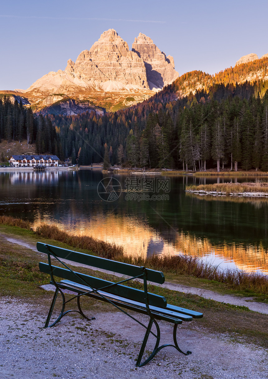
[[[128,254],[183,253],[268,273],[268,199],[185,193],[187,183],[231,180],[226,177],[112,178],[90,169],[0,172],[0,214],[122,244]]]

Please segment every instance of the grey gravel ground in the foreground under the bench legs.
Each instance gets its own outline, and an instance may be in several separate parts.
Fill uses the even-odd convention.
[[[48,310],[42,305],[5,297],[0,307],[1,379],[268,377],[266,349],[234,342],[227,334],[207,334],[198,320],[178,330],[179,345],[190,349],[191,356],[165,348],[148,365],[135,368],[144,330],[122,312],[97,313],[86,322],[65,316],[57,326],[44,329]],[[139,319],[147,321],[145,316]],[[163,342],[171,342],[170,324],[162,322],[160,327]],[[152,347],[150,340],[147,348]]]

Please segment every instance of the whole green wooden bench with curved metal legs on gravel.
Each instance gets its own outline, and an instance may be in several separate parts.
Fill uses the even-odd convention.
[[[140,325],[145,327],[146,332],[140,348],[139,356],[137,359],[136,366],[141,367],[148,363],[156,353],[167,346],[175,347],[179,352],[184,355],[192,354],[191,351],[186,353],[181,351],[178,346],[176,331],[178,324],[182,324],[182,321],[192,321],[193,318],[203,317],[202,313],[195,312],[193,310],[184,309],[177,307],[175,305],[167,304],[164,296],[159,296],[148,292],[147,281],[162,284],[165,281],[164,274],[160,271],[154,271],[147,269],[145,267],[139,267],[134,265],[129,265],[127,263],[116,262],[113,260],[96,257],[94,255],[88,255],[79,253],[76,251],[71,251],[67,249],[62,249],[61,247],[51,246],[44,243],[37,242],[37,250],[42,253],[46,253],[48,257],[48,263],[39,263],[39,269],[42,273],[50,274],[51,281],[50,284],[55,285],[56,290],[51,302],[50,310],[48,312],[47,320],[45,322],[45,327],[51,327],[58,323],[60,319],[69,312],[78,312],[84,318],[83,310],[80,305],[81,296],[90,296],[92,298],[105,301],[116,307],[118,310],[122,311],[133,320],[137,321]],[[51,263],[51,258],[56,263],[60,263],[63,267],[53,265]],[[66,263],[62,260],[68,260],[76,263],[82,263],[84,265],[93,266],[95,268],[101,268],[105,270],[112,271],[114,273],[123,274],[127,279],[122,278],[120,282],[109,282],[108,280],[103,280],[93,276],[85,275],[76,271],[73,271]],[[60,277],[63,280],[57,281],[55,277]],[[137,290],[136,288],[128,287],[126,284],[132,279],[141,279],[143,281],[143,290]],[[77,299],[78,310],[67,310],[65,311],[65,304],[72,299],[65,300],[64,292],[62,290],[69,290],[75,292],[77,295],[73,296],[72,299]],[[51,314],[56,302],[58,293],[62,296],[62,310],[55,322],[50,323]],[[130,315],[126,310],[132,310],[143,315],[148,315],[150,321],[148,326],[145,326],[139,320],[137,320],[133,315]],[[95,319],[92,317],[92,319]],[[174,345],[166,344],[159,346],[160,342],[160,328],[157,321],[164,320],[174,324],[173,327],[173,341]],[[151,328],[155,324],[156,334],[152,332]],[[142,356],[145,350],[145,346],[149,335],[152,334],[156,337],[156,345],[154,347],[151,355],[142,362]]]

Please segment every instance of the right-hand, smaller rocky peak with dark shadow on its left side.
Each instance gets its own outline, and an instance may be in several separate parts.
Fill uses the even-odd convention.
[[[153,40],[145,34],[140,33],[135,38],[132,52],[137,53],[145,63],[150,88],[162,88],[178,78],[179,74],[175,70],[173,57],[161,52]]]

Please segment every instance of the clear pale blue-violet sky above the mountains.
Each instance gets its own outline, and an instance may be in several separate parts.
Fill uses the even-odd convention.
[[[268,53],[268,0],[0,0],[0,89],[26,89],[64,70],[114,28],[141,32],[172,55],[179,74],[215,74],[243,55]]]

